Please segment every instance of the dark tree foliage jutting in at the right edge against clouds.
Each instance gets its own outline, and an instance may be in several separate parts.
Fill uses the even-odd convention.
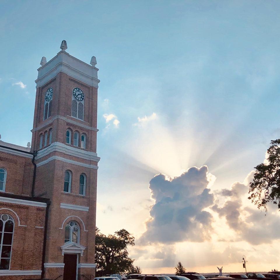
[[[258,164],[253,182],[250,183],[248,199],[267,211],[267,203],[278,204],[280,209],[280,139],[272,140],[267,150],[267,164]]]

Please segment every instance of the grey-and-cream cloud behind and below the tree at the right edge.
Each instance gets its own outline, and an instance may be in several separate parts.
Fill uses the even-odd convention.
[[[251,176],[249,174],[249,178]],[[267,213],[258,210],[247,201],[248,189],[248,183],[236,182],[230,190],[221,190],[218,195],[225,197],[226,201],[222,207],[215,204],[212,210],[220,217],[225,217],[227,225],[237,232],[235,241],[245,240],[258,245],[279,239],[280,219],[277,207],[269,205]]]

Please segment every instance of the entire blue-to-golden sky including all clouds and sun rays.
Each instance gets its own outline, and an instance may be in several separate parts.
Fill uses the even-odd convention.
[[[67,41],[97,58],[97,226],[145,273],[280,269],[279,212],[248,184],[280,133],[279,1],[0,2],[1,140],[31,141],[35,83]]]

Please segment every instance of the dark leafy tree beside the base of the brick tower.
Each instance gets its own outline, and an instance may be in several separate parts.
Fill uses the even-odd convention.
[[[97,228],[98,229],[98,228]],[[95,262],[103,274],[123,274],[134,262],[128,257],[127,246],[134,246],[134,237],[125,229],[108,236],[99,230],[95,235]]]

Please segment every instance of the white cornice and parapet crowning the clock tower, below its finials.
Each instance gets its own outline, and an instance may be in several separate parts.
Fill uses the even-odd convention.
[[[98,88],[98,83],[100,82],[97,78],[98,70],[98,68],[78,60],[76,57],[69,55],[69,53],[61,51],[38,69],[38,78],[35,81],[36,88],[50,81],[59,72],[64,72],[87,85]]]

